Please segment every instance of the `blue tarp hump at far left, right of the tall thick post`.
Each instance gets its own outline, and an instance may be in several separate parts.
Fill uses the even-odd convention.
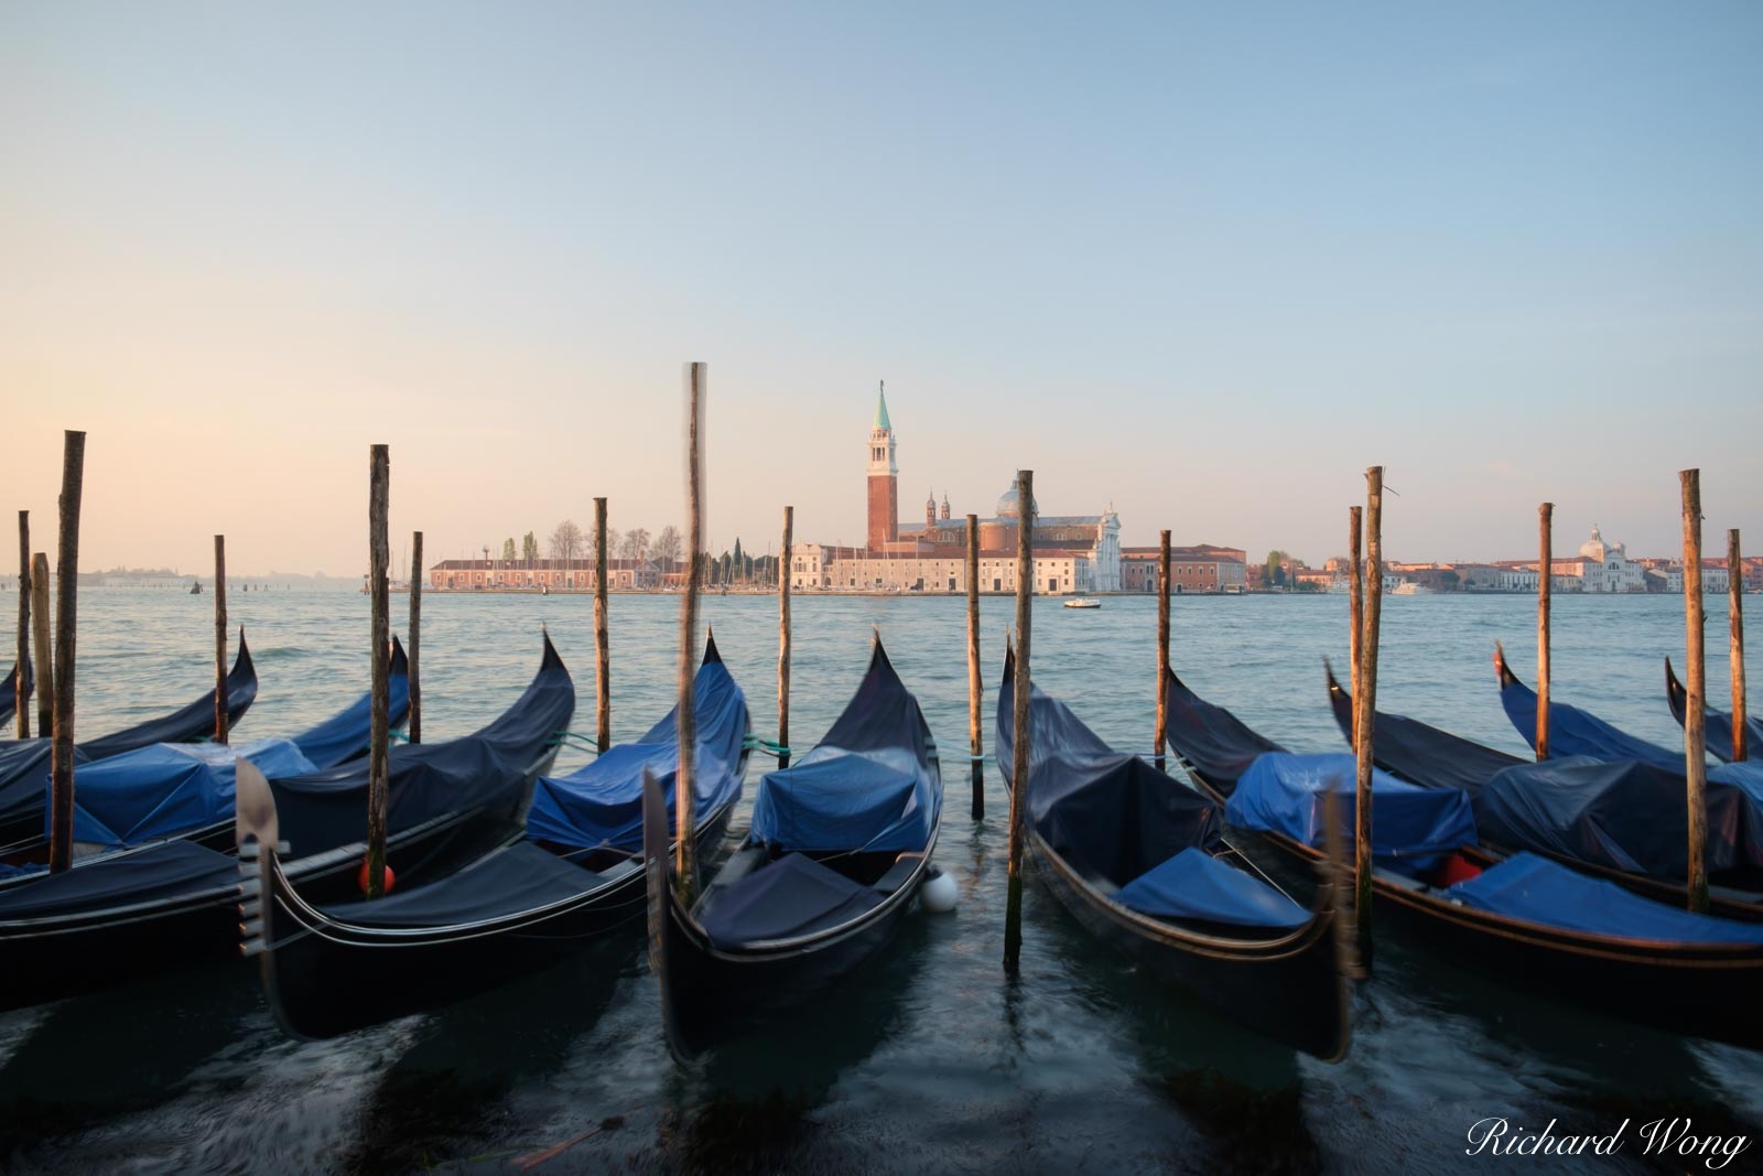
[[[74,841],[134,845],[233,818],[240,760],[268,776],[316,770],[291,739],[242,744],[153,744],[74,770]],[[49,836],[44,783],[42,836]]]

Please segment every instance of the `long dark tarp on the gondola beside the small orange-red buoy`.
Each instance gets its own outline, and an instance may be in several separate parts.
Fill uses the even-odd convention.
[[[547,636],[538,675],[494,723],[464,739],[391,748],[386,830],[513,799],[568,730],[573,712],[575,684]],[[330,772],[270,781],[289,857],[367,837],[367,760],[356,760]]]

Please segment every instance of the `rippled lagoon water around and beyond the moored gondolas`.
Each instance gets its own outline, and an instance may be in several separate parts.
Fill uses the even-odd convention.
[[[1708,605],[1708,693],[1724,709],[1724,603]],[[363,596],[254,591],[229,607],[261,677],[240,737],[289,733],[365,688]],[[984,601],[987,746],[1012,607]],[[614,739],[672,702],[677,610],[670,598],[612,599]],[[1345,663],[1345,598],[1178,598],[1172,612],[1174,665],[1201,695],[1294,749],[1343,749],[1322,658]],[[774,737],[776,601],[707,598],[703,619],[755,730]],[[515,698],[541,624],[577,677],[577,728],[592,732],[589,598],[430,594],[423,621],[428,739]],[[79,730],[113,730],[208,688],[212,624],[208,596],[83,592]],[[1763,1056],[1532,1000],[1389,933],[1338,1065],[1149,982],[1033,883],[1023,970],[1007,980],[1007,797],[987,767],[987,816],[968,816],[963,601],[797,598],[793,742],[813,744],[843,707],[871,626],[948,756],[938,860],[961,904],[917,913],[867,973],[689,1068],[663,1046],[640,927],[515,987],[321,1044],[277,1031],[243,963],[167,975],[0,1014],[0,1169],[1622,1172],[1652,1171],[1638,1141],[1603,1160],[1491,1158],[1465,1157],[1465,1132],[1506,1116],[1608,1134],[1627,1118],[1633,1141],[1664,1114],[1763,1135]],[[1379,703],[1520,753],[1490,654],[1504,640],[1527,672],[1534,636],[1527,598],[1389,598]],[[1555,599],[1555,696],[1636,735],[1682,739],[1661,672],[1661,656],[1682,665],[1682,598]],[[1040,601],[1033,656],[1044,689],[1116,746],[1149,749],[1153,599],[1109,598],[1093,612]],[[580,762],[569,756],[561,767]],[[744,829],[742,809],[732,836]],[[1726,1171],[1759,1165],[1763,1143]]]

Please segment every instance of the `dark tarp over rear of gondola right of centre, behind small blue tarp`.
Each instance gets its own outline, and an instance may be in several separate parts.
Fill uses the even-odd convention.
[[[1015,675],[998,688],[996,749],[1005,785],[1014,763]],[[1243,728],[1248,730],[1248,728]],[[1030,693],[1028,820],[1082,875],[1120,889],[1185,848],[1209,848],[1218,809],[1135,755],[1114,751],[1070,707]]]

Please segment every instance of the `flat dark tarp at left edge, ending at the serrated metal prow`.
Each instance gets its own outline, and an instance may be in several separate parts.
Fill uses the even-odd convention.
[[[201,894],[238,883],[238,860],[194,841],[76,859],[72,869],[0,889],[0,922]]]

